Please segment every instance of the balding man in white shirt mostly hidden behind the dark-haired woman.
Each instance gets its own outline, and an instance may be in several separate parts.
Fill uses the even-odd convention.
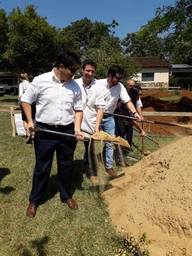
[[[131,90],[131,88],[135,85],[135,81],[133,79],[129,79],[125,85],[126,87],[126,90],[127,92],[129,93],[129,91]],[[139,100],[137,100],[137,105],[136,105],[136,109],[141,117],[141,119],[144,119],[143,118],[143,115],[142,115],[142,109],[141,107],[143,107],[143,104],[141,102],[141,99],[139,98]],[[124,122],[124,125],[126,125],[126,128],[125,128],[125,136],[126,136],[126,140],[128,141],[130,147],[132,146],[132,137],[133,137],[133,122],[132,120],[128,120],[127,119],[127,122]],[[133,151],[132,148],[129,148],[129,149],[126,149],[126,150],[129,150],[129,151]]]

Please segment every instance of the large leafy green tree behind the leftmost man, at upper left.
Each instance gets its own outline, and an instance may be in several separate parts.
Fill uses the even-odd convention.
[[[50,70],[58,53],[59,31],[40,17],[34,5],[28,5],[22,13],[13,9],[8,15],[8,44],[4,58],[16,72],[32,76]]]

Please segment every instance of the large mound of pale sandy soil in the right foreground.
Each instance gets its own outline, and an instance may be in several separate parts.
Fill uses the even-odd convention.
[[[187,136],[124,168],[125,176],[104,192],[117,230],[147,232],[152,256],[192,255],[191,156],[192,136]]]

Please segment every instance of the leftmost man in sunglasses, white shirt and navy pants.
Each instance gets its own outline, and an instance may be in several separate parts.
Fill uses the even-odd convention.
[[[21,96],[22,107],[28,121],[27,130],[30,127],[34,128],[31,104],[36,101],[36,126],[58,132],[75,133],[77,140],[84,140],[84,134],[80,130],[83,118],[81,90],[72,79],[79,64],[80,59],[74,52],[62,51],[57,57],[56,68],[34,78],[28,90]],[[27,208],[28,217],[36,215],[37,205],[49,180],[55,151],[60,198],[69,208],[77,209],[78,206],[70,191],[75,144],[75,139],[71,137],[36,132],[36,166]]]

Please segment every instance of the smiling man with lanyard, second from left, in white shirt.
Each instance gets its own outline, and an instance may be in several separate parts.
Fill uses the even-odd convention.
[[[82,92],[84,110],[81,128],[92,133],[99,132],[100,123],[103,118],[103,107],[105,106],[103,93],[93,80],[96,68],[97,64],[93,60],[85,60],[82,66],[83,76],[75,80]],[[84,132],[84,135],[90,137],[88,133]],[[87,166],[85,168],[86,176],[93,184],[98,184],[98,180],[95,177],[95,165],[92,163],[93,159],[89,159],[88,156],[89,141],[84,141],[84,146],[87,159]],[[94,151],[94,143],[91,145],[91,151]],[[93,155],[92,152],[91,155]]]

